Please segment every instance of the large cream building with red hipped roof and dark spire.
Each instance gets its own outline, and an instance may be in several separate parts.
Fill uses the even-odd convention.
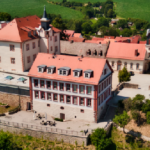
[[[45,8],[41,19],[13,19],[0,30],[0,71],[24,72],[39,52],[59,54],[60,32],[50,25]]]

